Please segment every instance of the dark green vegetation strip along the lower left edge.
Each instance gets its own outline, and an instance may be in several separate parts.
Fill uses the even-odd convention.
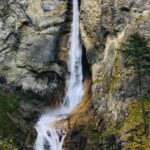
[[[20,97],[13,93],[0,91],[0,150],[17,150],[13,144],[14,125],[8,113],[18,113]]]

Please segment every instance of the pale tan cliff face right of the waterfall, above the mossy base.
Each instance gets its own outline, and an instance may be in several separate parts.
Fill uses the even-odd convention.
[[[81,1],[81,37],[91,63],[93,103],[99,112],[110,112],[114,118],[116,108],[122,111],[126,101],[136,96],[136,87],[130,84],[134,75],[124,69],[117,49],[131,33],[150,38],[149,8],[148,0]]]

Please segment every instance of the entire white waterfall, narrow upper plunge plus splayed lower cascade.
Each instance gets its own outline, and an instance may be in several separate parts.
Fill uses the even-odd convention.
[[[78,0],[73,0],[73,22],[70,37],[68,67],[70,78],[62,104],[57,109],[50,110],[41,116],[36,125],[37,139],[35,150],[62,150],[65,131],[61,122],[67,118],[83,97],[82,49],[79,38],[79,8]]]

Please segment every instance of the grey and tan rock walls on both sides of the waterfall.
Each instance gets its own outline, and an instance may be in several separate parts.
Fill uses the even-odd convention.
[[[1,118],[11,120],[21,150],[32,149],[36,135],[31,127],[42,108],[57,105],[63,97],[71,10],[69,0],[0,1],[0,100],[12,103],[0,103],[11,110],[2,110]],[[90,68],[92,74],[89,116],[93,117],[70,130],[66,149],[150,149],[142,129],[135,72],[124,66],[118,51],[131,33],[150,39],[149,20],[149,0],[80,1],[81,42],[90,66],[84,70]],[[150,76],[142,83],[148,94]],[[147,116],[149,108],[146,101]],[[8,128],[0,133],[6,135]]]

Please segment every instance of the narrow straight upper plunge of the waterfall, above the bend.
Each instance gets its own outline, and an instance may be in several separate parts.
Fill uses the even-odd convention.
[[[71,46],[69,51],[69,71],[70,80],[64,102],[69,110],[72,110],[82,99],[82,49],[79,38],[79,8],[78,0],[73,0],[73,22],[71,30]]]

